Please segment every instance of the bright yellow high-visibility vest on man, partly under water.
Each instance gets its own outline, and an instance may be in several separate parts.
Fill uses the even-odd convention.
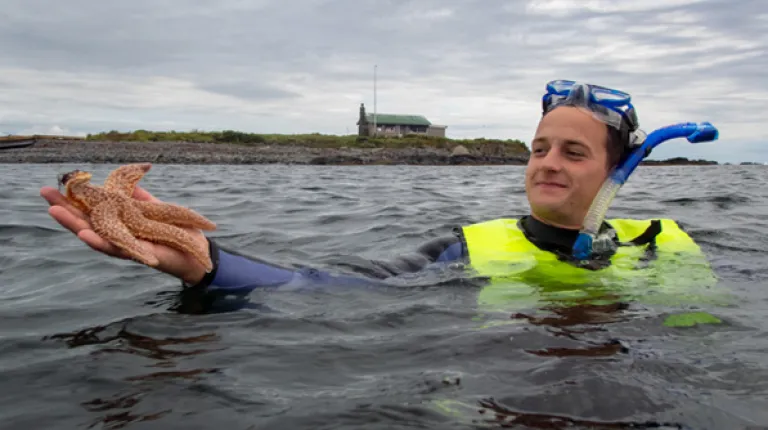
[[[619,242],[641,236],[651,220],[611,219]],[[508,308],[534,302],[606,303],[636,299],[686,303],[701,299],[717,279],[696,242],[671,219],[657,220],[661,231],[647,245],[619,246],[604,267],[589,269],[538,248],[518,227],[501,218],[461,227],[468,269],[488,278],[478,297],[482,305]]]

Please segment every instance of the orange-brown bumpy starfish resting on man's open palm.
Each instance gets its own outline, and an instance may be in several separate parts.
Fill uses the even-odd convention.
[[[215,230],[216,224],[183,206],[132,198],[136,184],[151,166],[120,166],[107,176],[103,186],[90,182],[90,172],[73,170],[61,175],[59,184],[66,187],[67,200],[90,218],[93,231],[133,260],[152,267],[159,264],[152,250],[139,241],[143,239],[186,252],[210,272],[213,265],[208,249],[181,227]]]

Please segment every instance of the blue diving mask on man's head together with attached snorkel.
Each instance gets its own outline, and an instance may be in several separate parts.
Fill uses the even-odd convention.
[[[619,189],[653,148],[678,137],[685,137],[690,143],[714,141],[719,137],[717,128],[709,122],[673,124],[646,135],[638,128],[632,97],[623,91],[569,80],[551,81],[547,83],[546,90],[542,97],[543,113],[558,106],[586,109],[594,118],[618,130],[623,144],[630,151],[609,173],[589,207],[584,225],[573,244],[572,255],[577,260],[587,260],[595,252],[615,250],[613,236],[598,236],[600,226]]]

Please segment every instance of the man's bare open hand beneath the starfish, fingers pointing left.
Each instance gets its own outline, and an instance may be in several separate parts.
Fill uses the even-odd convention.
[[[88,217],[69,204],[59,190],[53,187],[43,187],[40,189],[40,196],[47,200],[50,205],[48,214],[64,228],[74,233],[86,245],[110,257],[130,259],[125,252],[96,234]],[[136,186],[133,198],[144,201],[160,201],[139,186]],[[190,228],[184,230],[199,240],[205,249],[208,249],[208,242],[202,231]],[[160,264],[156,267],[157,270],[175,276],[188,284],[196,284],[203,279],[205,269],[191,255],[165,245],[143,240],[141,242],[149,246],[157,259],[160,260]]]

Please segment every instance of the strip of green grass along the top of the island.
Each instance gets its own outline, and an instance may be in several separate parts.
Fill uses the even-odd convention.
[[[86,140],[112,142],[202,142],[234,143],[249,146],[292,145],[312,148],[419,148],[432,147],[453,149],[463,145],[472,149],[493,148],[494,152],[504,154],[528,154],[525,143],[516,140],[500,139],[449,139],[445,137],[410,135],[404,137],[359,137],[357,135],[332,134],[256,134],[234,130],[223,131],[147,131],[135,130],[121,133],[115,130],[89,134]]]

